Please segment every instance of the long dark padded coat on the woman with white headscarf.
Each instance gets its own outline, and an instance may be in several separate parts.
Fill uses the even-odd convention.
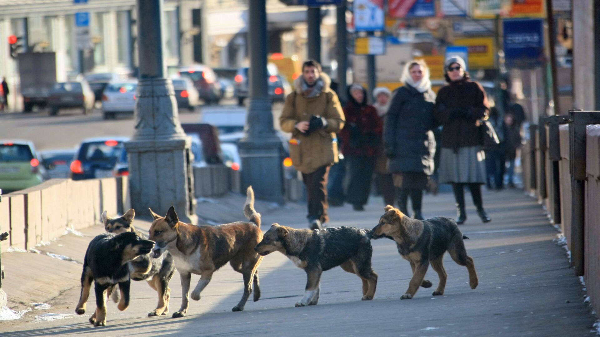
[[[389,171],[433,174],[436,140],[431,131],[436,127],[431,89],[418,92],[410,85],[395,91],[385,116],[383,146],[390,156]]]

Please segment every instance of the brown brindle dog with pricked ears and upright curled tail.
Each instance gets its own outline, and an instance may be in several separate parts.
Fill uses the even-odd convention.
[[[168,251],[173,256],[175,267],[181,276],[181,308],[173,317],[184,317],[189,305],[191,274],[199,274],[200,281],[191,293],[193,300],[200,299],[200,293],[211,281],[212,274],[227,262],[236,272],[244,276],[244,294],[233,311],[242,311],[253,290],[254,302],[260,298],[258,267],[262,257],[254,251],[254,246],[262,239],[260,214],[254,210],[254,192],[247,189],[244,215],[248,222],[230,224],[191,225],[180,222],[175,209],[170,207],[166,216],[152,212],[154,221],[150,227],[150,239],[156,242],[154,257]]]

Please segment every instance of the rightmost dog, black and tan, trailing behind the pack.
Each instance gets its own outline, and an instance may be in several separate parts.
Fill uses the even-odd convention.
[[[400,256],[410,262],[413,276],[409,288],[400,299],[412,299],[419,285],[424,288],[431,287],[431,282],[424,280],[427,268],[431,263],[433,270],[440,278],[433,296],[443,295],[446,287],[446,270],[443,266],[443,257],[446,251],[452,260],[469,270],[469,285],[475,289],[478,284],[477,273],[473,258],[467,255],[464,248],[463,236],[456,222],[450,218],[431,218],[424,221],[412,219],[400,210],[388,205],[385,213],[379,219],[379,224],[371,230],[373,239],[388,237],[396,242]]]

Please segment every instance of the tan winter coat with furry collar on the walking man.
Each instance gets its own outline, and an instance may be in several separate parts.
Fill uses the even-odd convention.
[[[323,89],[317,97],[304,97],[302,92],[302,76],[294,81],[296,90],[287,95],[286,103],[279,118],[281,130],[292,133],[289,142],[290,157],[296,170],[302,173],[313,173],[319,167],[337,163],[337,137],[335,133],[344,126],[340,100],[331,90],[331,79],[326,74],[320,74]],[[298,122],[309,122],[311,116],[326,119],[327,125],[320,130],[314,130],[308,135],[296,129]]]

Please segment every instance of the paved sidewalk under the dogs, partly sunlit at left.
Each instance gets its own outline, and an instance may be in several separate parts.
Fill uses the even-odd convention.
[[[244,197],[227,195],[213,201],[217,202],[199,203],[201,218],[211,222],[242,218]],[[56,279],[49,286],[62,290],[54,290],[60,293],[59,296],[47,302],[53,309],[28,312],[24,318],[16,321],[0,321],[0,330],[11,336],[595,335],[590,330],[597,318],[590,314],[589,305],[584,302],[583,285],[569,267],[564,249],[553,242],[557,231],[548,224],[541,206],[524,196],[521,190],[485,192],[484,203],[493,221],[482,224],[470,206],[467,208],[469,218],[460,227],[463,234],[470,237],[470,240],[466,240],[466,246],[467,252],[475,260],[479,275],[479,287],[476,290],[469,288],[466,269],[455,264],[446,254],[448,283],[445,294],[433,297],[433,288],[421,288],[414,299],[400,300],[408,287],[410,267],[398,255],[395,243],[382,239],[373,241],[373,269],[379,274],[379,284],[371,301],[360,300],[361,283],[358,277],[335,268],[323,273],[319,305],[295,308],[294,303],[304,291],[305,273],[283,254],[275,252],[268,255],[260,266],[261,300],[248,302],[244,312],[231,312],[232,306],[241,297],[242,282],[238,273],[225,266],[215,273],[202,299],[190,303],[187,317],[146,317],[147,312],[155,307],[156,294],[145,283],[132,282],[130,308],[119,312],[114,303],[109,303],[109,325],[94,329],[87,323],[88,314],[81,317],[71,315],[79,298],[77,283],[81,265],[28,254],[36,258],[43,257],[53,270],[58,270],[58,266],[50,267],[50,264],[63,266],[65,270],[56,272]],[[302,204],[277,207],[258,202],[256,209],[263,215],[263,230],[267,230],[273,222],[296,228],[305,228],[307,225],[305,206]],[[332,222],[329,225],[373,228],[383,213],[381,199],[371,198],[365,209],[364,212],[355,212],[350,206],[332,208]],[[455,216],[451,194],[425,196],[424,216],[438,215]],[[136,221],[136,226],[147,229],[149,224]],[[102,229],[101,226],[89,228],[84,233],[86,237],[69,234],[43,249],[62,252],[57,254],[71,254],[67,256],[80,260],[86,242]],[[24,286],[34,282],[34,275],[40,273],[39,266],[24,265],[26,259],[20,254],[25,253],[2,255],[2,261],[7,265],[5,291],[10,300],[17,298],[27,304],[27,301],[39,302],[32,294],[32,288]],[[65,264],[73,266],[64,267]],[[18,281],[14,281],[14,278]],[[198,278],[197,275],[192,277],[193,285]],[[437,275],[431,268],[426,278],[436,287]],[[66,282],[67,279],[71,281]],[[59,282],[61,287],[56,287],[54,282]],[[177,275],[173,276],[170,287],[170,312],[174,312],[181,303],[181,286]],[[94,307],[93,298],[92,294],[88,308]],[[40,314],[49,313],[67,316],[62,320],[30,323],[36,316],[40,321]]]

